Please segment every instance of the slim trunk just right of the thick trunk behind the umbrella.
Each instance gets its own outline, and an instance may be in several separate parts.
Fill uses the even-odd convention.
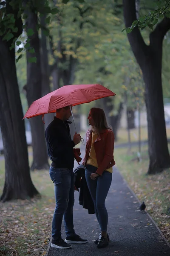
[[[45,28],[45,18],[46,15],[41,17],[41,25]],[[41,96],[44,96],[50,93],[50,70],[48,64],[48,49],[47,49],[47,42],[46,36],[43,33],[43,29],[41,30]],[[44,116],[45,121],[45,129],[51,123],[54,118],[54,113],[49,113]]]

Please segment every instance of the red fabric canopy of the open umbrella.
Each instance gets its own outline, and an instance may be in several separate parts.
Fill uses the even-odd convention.
[[[59,108],[76,106],[114,95],[115,93],[100,84],[65,85],[34,101],[24,118],[54,113]]]

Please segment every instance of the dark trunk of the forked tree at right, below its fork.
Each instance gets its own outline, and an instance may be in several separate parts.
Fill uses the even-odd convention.
[[[170,167],[170,155],[168,152],[164,120],[160,58],[160,55],[155,52],[155,55],[147,61],[147,68],[143,67],[143,77],[146,85],[145,101],[148,124],[148,150],[150,156],[148,174],[162,172],[164,169]]]

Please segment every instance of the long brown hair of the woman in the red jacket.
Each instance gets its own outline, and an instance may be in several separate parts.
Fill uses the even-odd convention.
[[[105,111],[102,108],[91,108],[91,117],[94,120],[94,130],[99,134],[102,130],[110,129],[112,130],[111,125],[108,125]],[[90,129],[92,132],[92,128]]]

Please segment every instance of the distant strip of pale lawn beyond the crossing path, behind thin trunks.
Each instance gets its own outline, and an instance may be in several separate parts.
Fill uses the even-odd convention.
[[[170,127],[167,127],[166,131],[167,131],[167,138],[170,138]],[[138,134],[139,134],[138,128],[130,129],[131,142],[136,142],[139,140]],[[118,137],[118,140],[115,143],[115,145],[119,144],[119,143],[127,143],[128,142],[127,130],[123,129],[123,128],[119,129],[118,133],[117,133],[117,137]],[[147,140],[147,139],[148,139],[147,127],[142,127],[141,128],[141,140]]]

